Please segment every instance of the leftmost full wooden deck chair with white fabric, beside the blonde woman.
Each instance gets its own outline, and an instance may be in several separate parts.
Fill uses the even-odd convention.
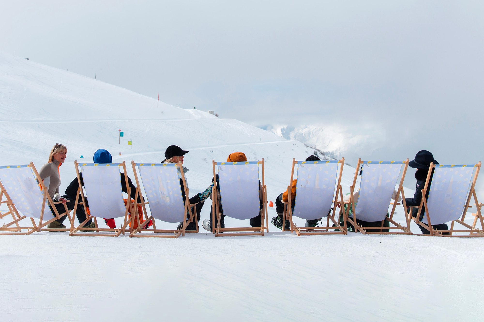
[[[7,212],[0,212],[0,219],[9,215],[13,219],[13,221],[0,227],[0,234],[30,235],[33,232],[40,231],[69,231],[70,228],[44,228],[65,214],[67,214],[69,222],[72,222],[67,206],[64,205],[65,212],[59,214],[55,205],[61,204],[61,202],[54,202],[46,191],[44,182],[33,162],[24,165],[0,166],[0,205],[6,205],[8,208]],[[54,210],[55,215],[50,210],[49,205]],[[21,222],[25,222],[22,220],[27,218],[30,219],[31,225],[23,226]],[[34,219],[38,220],[38,224]]]

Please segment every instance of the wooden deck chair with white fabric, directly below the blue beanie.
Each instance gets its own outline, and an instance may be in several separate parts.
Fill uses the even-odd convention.
[[[80,222],[79,226],[74,227],[72,221],[72,229],[70,236],[114,236],[117,237],[121,233],[124,234],[126,226],[129,224],[128,212],[131,210],[132,214],[136,212],[133,210],[131,203],[131,188],[127,187],[128,199],[126,204],[123,199],[123,192],[121,190],[121,170],[124,173],[124,180],[128,182],[126,174],[126,164],[122,163],[77,163],[76,166],[77,181],[79,182],[79,189],[77,190],[76,204],[84,207],[86,213],[86,220]],[[84,181],[84,189],[82,189],[80,172],[82,172],[82,180]],[[84,194],[86,190],[86,195]],[[79,200],[79,193],[81,200]],[[86,199],[89,198],[89,211],[86,207]],[[97,218],[120,218],[124,217],[123,225],[120,228],[99,228]],[[94,220],[95,228],[85,228],[84,225],[90,220]],[[86,233],[78,233],[79,230],[87,231]],[[90,231],[92,233],[90,233]],[[129,228],[131,233],[131,229]],[[105,234],[100,234],[103,232]],[[109,234],[106,234],[109,233]]]

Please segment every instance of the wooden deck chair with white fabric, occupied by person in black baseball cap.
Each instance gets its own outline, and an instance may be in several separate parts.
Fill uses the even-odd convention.
[[[132,216],[131,219],[133,221],[137,220],[138,225],[129,236],[177,238],[180,234],[183,236],[185,235],[186,227],[193,220],[195,220],[197,227],[195,232],[198,233],[198,223],[195,217],[196,213],[194,214],[191,211],[190,202],[188,200],[189,190],[186,187],[185,175],[181,163],[135,163],[134,161],[131,161],[131,165],[133,166],[133,173],[135,174],[137,187],[134,208],[137,210],[136,200],[139,195],[143,211],[147,214],[146,217],[148,217],[146,205],[149,205],[150,207],[151,216],[143,222],[139,222],[139,216]],[[146,202],[143,200],[136,167],[138,168],[139,176],[143,183],[147,199]],[[185,187],[185,202],[183,202],[183,196],[181,194],[180,179],[183,182],[183,187]],[[194,210],[197,211],[195,207]],[[188,219],[186,216],[187,213],[189,214]],[[181,225],[181,229],[179,230],[156,229],[155,219],[165,222],[183,222],[183,225]],[[153,226],[148,229],[143,229],[150,220],[153,220]],[[149,232],[153,234],[140,234],[141,232]]]

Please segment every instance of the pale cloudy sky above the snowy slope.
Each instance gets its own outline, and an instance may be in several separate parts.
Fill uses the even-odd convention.
[[[257,126],[383,133],[363,159],[484,160],[483,1],[0,2],[2,51]]]

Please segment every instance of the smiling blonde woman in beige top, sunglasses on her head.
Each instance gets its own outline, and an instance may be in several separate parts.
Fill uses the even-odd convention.
[[[47,163],[45,163],[42,168],[40,168],[39,175],[42,181],[44,182],[45,188],[47,189],[47,192],[49,193],[49,196],[56,201],[61,201],[62,204],[56,204],[56,209],[59,212],[59,214],[62,214],[65,212],[64,205],[67,206],[67,209],[72,210],[74,209],[74,204],[75,200],[67,200],[69,198],[67,195],[61,196],[59,193],[59,187],[61,186],[61,175],[59,168],[61,167],[62,163],[65,162],[65,158],[67,157],[67,147],[65,147],[62,144],[57,143],[52,150],[50,150],[50,155],[49,155],[49,160]],[[50,210],[52,213],[54,213],[53,209],[51,206]],[[79,208],[79,207],[77,207]],[[84,212],[82,212],[83,218],[79,218],[80,213],[77,213],[77,218],[79,219],[80,222],[83,222],[86,220],[86,216],[84,215]],[[65,225],[62,224],[62,222],[67,218],[67,215],[64,215],[61,217],[61,219],[54,220],[52,221],[48,228],[66,228]],[[92,226],[92,227],[91,227]],[[88,222],[85,227],[90,227],[93,228],[94,224],[91,222]]]

